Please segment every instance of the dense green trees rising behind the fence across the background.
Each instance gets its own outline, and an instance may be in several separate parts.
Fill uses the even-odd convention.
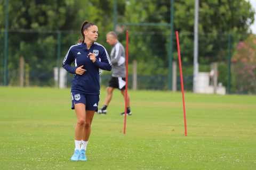
[[[163,0],[118,0],[117,22],[123,23],[170,23],[171,1]],[[194,1],[174,1],[174,31],[180,33],[182,62],[187,75],[193,71],[194,57]],[[37,86],[52,86],[49,75],[57,66],[58,30],[61,33],[61,61],[69,47],[79,37],[84,20],[94,22],[99,28],[98,43],[110,52],[105,35],[113,30],[114,1],[66,0],[66,1],[11,1],[9,2],[9,79],[18,79],[16,74],[19,58],[25,57],[29,64],[31,81]],[[227,64],[228,34],[233,35],[233,49],[240,40],[246,39],[249,26],[254,22],[250,2],[245,0],[199,1],[199,64],[222,62]],[[5,1],[0,0],[0,30],[4,30]],[[138,61],[138,74],[165,77],[169,74],[170,28],[158,26],[117,25],[119,40],[125,45],[125,31],[130,31],[129,60]],[[241,34],[244,34],[241,36]],[[3,51],[3,32],[0,33],[0,49]],[[178,61],[177,47],[173,40],[173,60]],[[234,52],[234,50],[233,50]],[[0,61],[3,53],[0,52]],[[3,62],[0,73],[3,71]],[[227,67],[227,66],[226,66]],[[210,70],[207,70],[210,71]],[[43,73],[43,74],[42,74]],[[2,79],[2,78],[1,78]],[[220,81],[226,83],[227,78]],[[15,85],[12,83],[11,85]]]

